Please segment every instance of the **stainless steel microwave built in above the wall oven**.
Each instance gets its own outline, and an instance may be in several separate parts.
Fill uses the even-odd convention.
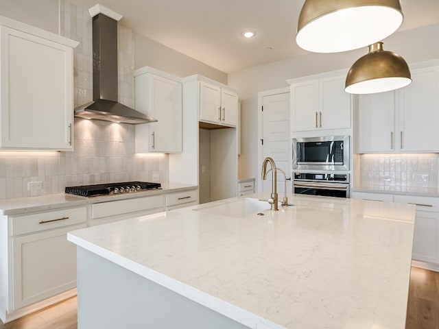
[[[293,169],[349,170],[349,136],[293,138]]]

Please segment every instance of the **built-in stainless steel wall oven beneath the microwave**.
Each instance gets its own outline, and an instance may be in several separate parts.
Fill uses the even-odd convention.
[[[349,197],[348,173],[294,173],[296,194]]]

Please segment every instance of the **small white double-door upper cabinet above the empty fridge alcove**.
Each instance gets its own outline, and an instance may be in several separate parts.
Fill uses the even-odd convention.
[[[237,93],[220,84],[200,82],[200,121],[236,127]]]

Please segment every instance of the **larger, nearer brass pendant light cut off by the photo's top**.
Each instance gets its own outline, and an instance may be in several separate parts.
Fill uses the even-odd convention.
[[[296,42],[316,53],[337,53],[372,45],[403,23],[399,0],[306,0]]]

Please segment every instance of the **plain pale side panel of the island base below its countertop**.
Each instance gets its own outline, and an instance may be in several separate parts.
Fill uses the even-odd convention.
[[[81,247],[78,280],[80,329],[249,328]]]

